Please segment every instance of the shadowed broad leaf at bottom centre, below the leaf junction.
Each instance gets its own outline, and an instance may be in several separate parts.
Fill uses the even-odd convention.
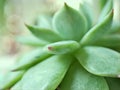
[[[60,90],[109,90],[104,77],[87,72],[78,62],[71,65]]]

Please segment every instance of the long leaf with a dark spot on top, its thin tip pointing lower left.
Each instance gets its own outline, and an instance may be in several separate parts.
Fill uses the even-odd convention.
[[[41,48],[36,49],[21,57],[18,64],[13,67],[13,71],[28,69],[50,56],[51,54],[47,53],[47,51]]]

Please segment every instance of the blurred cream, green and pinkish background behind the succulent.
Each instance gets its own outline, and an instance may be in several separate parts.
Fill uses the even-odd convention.
[[[100,0],[0,0],[0,80],[20,56],[35,48],[16,41],[17,36],[30,35],[25,24],[34,24],[39,19],[46,22],[44,17],[52,17],[65,2],[78,9],[84,1],[96,13],[93,18],[96,21]],[[114,11],[114,21],[119,24],[120,0],[114,0]],[[49,27],[49,24],[46,26]]]

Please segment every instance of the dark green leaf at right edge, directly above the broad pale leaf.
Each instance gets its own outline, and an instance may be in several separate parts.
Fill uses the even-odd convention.
[[[106,46],[110,48],[120,47],[120,35],[119,34],[106,35],[101,40],[97,41],[95,45]]]

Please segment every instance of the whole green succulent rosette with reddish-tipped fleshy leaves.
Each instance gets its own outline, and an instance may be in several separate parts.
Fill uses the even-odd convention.
[[[39,47],[20,58],[1,90],[120,90],[120,28],[113,27],[112,0],[94,25],[89,9],[64,4],[53,30],[26,25],[38,38],[28,43]]]

